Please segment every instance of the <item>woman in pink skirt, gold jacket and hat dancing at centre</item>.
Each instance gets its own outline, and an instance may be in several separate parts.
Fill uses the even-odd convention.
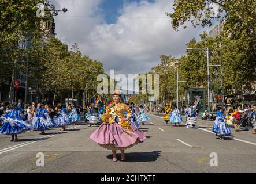
[[[107,150],[112,150],[113,161],[117,161],[116,151],[121,151],[124,161],[124,150],[146,140],[146,133],[129,123],[132,111],[128,105],[120,102],[121,92],[115,91],[113,101],[107,105],[106,113],[101,116],[103,124],[90,136],[92,140]],[[127,117],[124,118],[124,113]]]

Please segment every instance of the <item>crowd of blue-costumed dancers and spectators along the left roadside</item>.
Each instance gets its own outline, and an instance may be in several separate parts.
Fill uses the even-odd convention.
[[[12,140],[18,141],[17,135],[25,131],[41,131],[44,135],[45,130],[52,127],[62,127],[65,131],[65,125],[76,125],[80,120],[79,106],[69,104],[50,105],[47,101],[35,104],[23,104],[21,99],[16,102],[2,102],[0,104],[0,133],[3,135],[12,135]]]

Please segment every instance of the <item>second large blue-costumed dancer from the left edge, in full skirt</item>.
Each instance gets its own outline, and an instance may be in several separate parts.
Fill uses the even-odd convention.
[[[54,127],[55,123],[51,121],[49,112],[45,108],[45,104],[40,104],[40,108],[36,109],[36,116],[32,118],[33,129],[40,130],[42,135],[45,134],[46,129]]]

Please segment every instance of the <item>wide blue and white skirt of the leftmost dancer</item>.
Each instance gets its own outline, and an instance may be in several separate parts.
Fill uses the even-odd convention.
[[[0,128],[0,133],[4,135],[13,135],[18,133],[23,133],[31,129],[31,125],[29,125],[25,121],[13,120],[12,118],[6,118],[3,120],[2,127]]]

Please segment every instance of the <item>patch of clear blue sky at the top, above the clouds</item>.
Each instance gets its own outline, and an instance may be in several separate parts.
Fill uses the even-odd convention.
[[[125,3],[140,1],[142,0],[103,0],[99,5],[99,8],[103,11],[102,13],[106,23],[115,24],[118,16],[121,15],[120,10],[123,8]],[[154,3],[154,0],[147,0],[147,2]]]

